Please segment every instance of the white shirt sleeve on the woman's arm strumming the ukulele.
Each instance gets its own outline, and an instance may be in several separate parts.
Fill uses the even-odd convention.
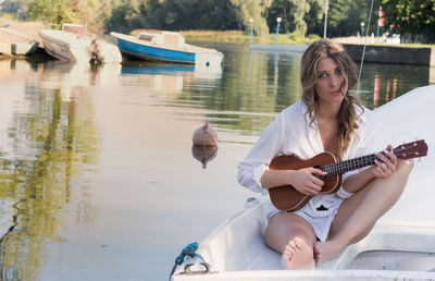
[[[266,195],[261,176],[269,169],[271,160],[282,150],[285,138],[283,114],[278,114],[263,131],[258,142],[237,168],[239,184],[253,192]]]

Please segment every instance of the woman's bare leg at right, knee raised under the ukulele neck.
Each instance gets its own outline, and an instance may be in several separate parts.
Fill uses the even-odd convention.
[[[315,252],[320,253],[318,264],[334,258],[347,245],[369,234],[376,221],[399,199],[412,167],[412,161],[400,161],[390,176],[372,181],[341,204],[331,225],[328,240],[315,244]]]

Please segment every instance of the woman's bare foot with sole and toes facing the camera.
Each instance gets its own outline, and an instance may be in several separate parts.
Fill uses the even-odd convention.
[[[299,237],[294,237],[284,249],[283,269],[314,269],[313,246]]]

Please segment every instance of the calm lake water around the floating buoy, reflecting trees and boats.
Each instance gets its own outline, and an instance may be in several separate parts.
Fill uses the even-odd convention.
[[[3,280],[167,280],[184,246],[243,209],[236,166],[299,99],[301,53],[202,46],[222,68],[0,61]],[[365,64],[359,95],[373,109],[433,77]],[[217,150],[192,149],[204,122]]]

